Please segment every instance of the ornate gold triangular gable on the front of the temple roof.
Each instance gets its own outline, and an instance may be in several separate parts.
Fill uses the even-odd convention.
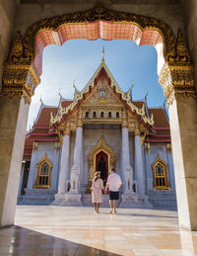
[[[73,102],[65,108],[60,106],[60,111],[56,117],[51,115],[51,126],[60,124],[63,116],[67,116],[67,114],[70,115],[76,108],[83,105],[127,106],[132,113],[141,116],[145,124],[149,126],[154,125],[153,116],[151,119],[146,116],[144,105],[140,109],[132,103],[130,90],[127,93],[121,90],[104,61],[101,61],[95,74],[84,89],[81,92],[76,90]]]

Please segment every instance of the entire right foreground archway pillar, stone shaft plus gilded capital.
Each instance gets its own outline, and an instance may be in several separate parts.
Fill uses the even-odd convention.
[[[165,65],[159,82],[169,112],[179,226],[197,230],[197,98],[193,65],[181,34],[175,58],[168,59],[172,62]]]

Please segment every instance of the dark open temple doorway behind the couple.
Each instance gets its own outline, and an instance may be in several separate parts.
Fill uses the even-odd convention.
[[[105,185],[108,177],[108,155],[102,150],[96,155],[96,171],[100,172],[100,178]]]

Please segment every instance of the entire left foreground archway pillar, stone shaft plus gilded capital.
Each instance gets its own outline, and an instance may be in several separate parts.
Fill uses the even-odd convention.
[[[0,226],[14,223],[31,97],[39,77],[18,33],[0,93]]]

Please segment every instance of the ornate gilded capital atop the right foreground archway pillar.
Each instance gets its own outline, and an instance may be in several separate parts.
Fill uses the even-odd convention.
[[[167,104],[178,97],[196,98],[193,64],[186,40],[179,30],[176,43],[165,55],[166,63],[159,77]]]

